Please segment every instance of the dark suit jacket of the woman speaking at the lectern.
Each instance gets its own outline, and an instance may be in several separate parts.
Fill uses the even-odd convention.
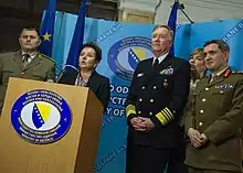
[[[78,72],[67,69],[61,74],[60,79],[57,80],[59,84],[67,84],[67,85],[75,85]],[[104,111],[106,110],[109,97],[110,97],[110,87],[109,87],[109,79],[105,76],[99,75],[97,72],[93,72],[91,75],[87,86],[101,100],[104,106]]]

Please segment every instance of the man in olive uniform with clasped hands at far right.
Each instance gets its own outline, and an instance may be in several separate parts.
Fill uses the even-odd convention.
[[[240,173],[243,74],[228,66],[230,47],[221,40],[207,42],[203,55],[211,75],[198,83],[187,116],[186,163],[189,173]]]

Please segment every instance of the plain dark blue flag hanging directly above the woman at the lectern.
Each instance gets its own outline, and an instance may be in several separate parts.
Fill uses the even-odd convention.
[[[73,40],[72,40],[68,56],[66,60],[65,67],[71,67],[74,69],[77,69],[80,52],[81,52],[81,48],[83,46],[83,41],[84,41],[86,1],[87,0],[82,0],[77,21],[76,21],[76,26],[73,33]]]

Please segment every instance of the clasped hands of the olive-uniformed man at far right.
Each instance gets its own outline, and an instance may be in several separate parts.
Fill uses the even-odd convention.
[[[209,141],[209,138],[204,133],[200,133],[193,128],[188,129],[188,137],[194,148],[200,148]]]

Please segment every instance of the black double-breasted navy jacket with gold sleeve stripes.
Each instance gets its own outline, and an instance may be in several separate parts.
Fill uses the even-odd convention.
[[[140,62],[134,73],[126,101],[128,138],[136,144],[176,148],[181,143],[179,126],[190,89],[190,65],[168,55],[157,67],[152,58]],[[136,131],[129,121],[140,116],[150,118],[155,128]]]

